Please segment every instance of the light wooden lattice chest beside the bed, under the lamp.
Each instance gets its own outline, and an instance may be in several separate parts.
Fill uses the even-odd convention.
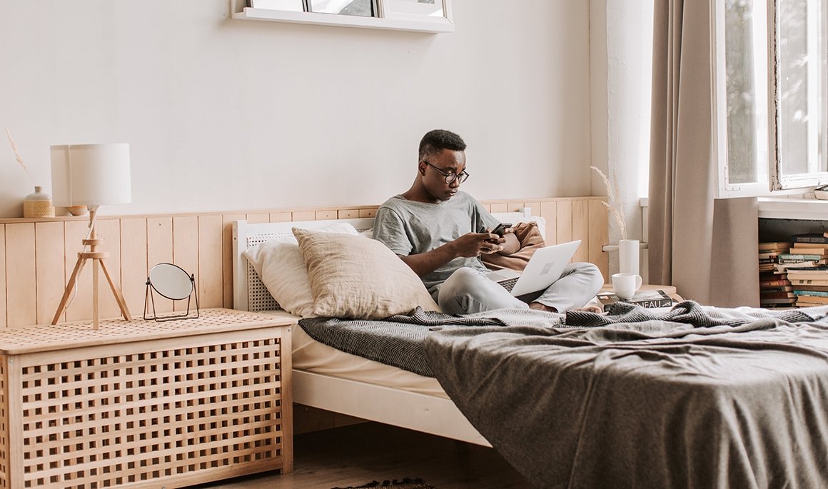
[[[295,322],[201,316],[0,330],[0,487],[181,487],[290,472]]]

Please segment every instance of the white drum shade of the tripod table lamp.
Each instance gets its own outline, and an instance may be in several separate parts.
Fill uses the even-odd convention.
[[[56,206],[129,204],[129,145],[51,146],[52,201]]]

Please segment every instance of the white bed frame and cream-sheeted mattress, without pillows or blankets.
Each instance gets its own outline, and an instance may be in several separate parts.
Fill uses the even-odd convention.
[[[527,213],[494,213],[501,222],[544,219]],[[291,235],[294,227],[317,229],[348,223],[361,232],[373,218],[301,221],[294,223],[233,223],[233,304],[235,309],[286,314],[272,298],[248,262],[248,247]],[[545,232],[544,232],[545,233]],[[491,446],[469,424],[433,377],[389,367],[315,342],[295,328],[293,395],[296,403],[361,419],[437,434],[450,439]]]

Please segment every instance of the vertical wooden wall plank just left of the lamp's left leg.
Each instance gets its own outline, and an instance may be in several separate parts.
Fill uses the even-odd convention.
[[[51,323],[66,288],[63,229],[61,222],[35,223],[37,324]]]

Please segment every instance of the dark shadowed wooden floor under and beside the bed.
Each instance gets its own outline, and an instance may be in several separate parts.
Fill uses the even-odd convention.
[[[330,489],[421,478],[436,489],[529,489],[492,448],[385,424],[363,423],[294,438],[294,471],[200,486],[210,489]]]

